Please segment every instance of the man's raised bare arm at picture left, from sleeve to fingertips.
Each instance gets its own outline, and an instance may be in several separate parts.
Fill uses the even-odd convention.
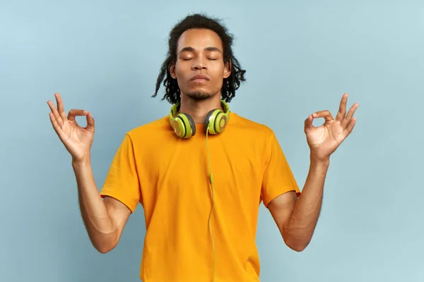
[[[52,101],[47,102],[51,109],[49,117],[54,131],[72,157],[83,222],[95,249],[101,253],[109,252],[119,242],[131,211],[112,197],[105,197],[105,200],[100,197],[90,164],[95,133],[93,116],[88,111],[71,109],[66,117],[60,95],[55,94],[55,97],[57,108]],[[76,116],[86,116],[86,128],[76,123]]]

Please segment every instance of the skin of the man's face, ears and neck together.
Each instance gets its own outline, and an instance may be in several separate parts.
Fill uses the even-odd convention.
[[[172,78],[181,90],[179,111],[203,124],[208,111],[221,109],[220,89],[231,73],[231,62],[224,63],[223,44],[212,30],[187,30],[178,39],[177,61],[170,66]],[[206,80],[192,80],[205,75]],[[199,94],[201,93],[201,94]]]

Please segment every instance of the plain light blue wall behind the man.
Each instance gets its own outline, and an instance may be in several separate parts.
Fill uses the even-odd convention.
[[[124,133],[168,113],[163,89],[151,98],[167,34],[199,11],[237,37],[248,82],[232,111],[273,128],[301,187],[307,115],[335,115],[343,92],[360,104],[304,252],[261,205],[261,281],[424,281],[423,1],[140,0],[0,1],[0,281],[139,281],[143,209],[95,251],[46,102],[92,111],[100,188]]]

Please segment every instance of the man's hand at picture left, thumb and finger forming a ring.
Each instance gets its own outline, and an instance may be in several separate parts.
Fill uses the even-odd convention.
[[[94,137],[94,119],[88,111],[71,109],[66,118],[64,104],[58,93],[54,94],[57,101],[57,109],[52,101],[48,101],[52,112],[49,113],[50,121],[59,139],[72,156],[73,161],[81,161],[90,155],[90,148]],[[82,128],[75,121],[76,116],[86,116],[87,126]]]

